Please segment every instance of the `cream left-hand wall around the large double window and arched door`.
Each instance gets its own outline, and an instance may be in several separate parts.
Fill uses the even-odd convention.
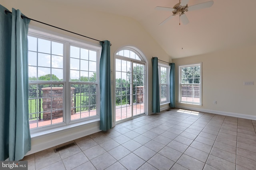
[[[80,8],[75,6],[66,6],[62,3],[54,3],[47,0],[0,0],[0,4],[10,11],[12,8],[20,9],[21,12],[34,20],[39,20],[56,27],[61,27],[69,31],[73,31],[88,37],[99,40],[109,40],[111,46],[111,65],[114,70],[114,52],[118,51],[121,47],[134,46],[138,48],[146,56],[148,62],[148,114],[152,113],[152,57],[158,57],[161,60],[171,62],[171,58],[165,51],[156,43],[156,41],[145,31],[145,29],[135,20],[128,17],[116,16],[91,10],[90,8]],[[30,22],[31,25],[42,27],[51,31],[66,34],[76,38],[84,39],[86,41],[93,41],[55,29],[34,21]],[[112,80],[114,80],[112,73]],[[114,96],[114,87],[112,86]],[[112,108],[114,108],[114,97],[112,97]],[[167,106],[168,107],[168,106]],[[166,105],[162,108],[167,108]],[[114,110],[114,109],[113,109]],[[112,111],[114,113],[114,111]],[[89,129],[89,130],[88,130]],[[78,138],[78,135],[69,134],[83,134],[88,135],[94,133],[99,129],[98,124],[88,125],[83,128],[70,129],[70,131],[62,131],[56,134],[49,134],[42,137],[32,139],[32,151],[29,153],[37,152],[53,147],[55,145]],[[82,136],[81,136],[82,137]]]

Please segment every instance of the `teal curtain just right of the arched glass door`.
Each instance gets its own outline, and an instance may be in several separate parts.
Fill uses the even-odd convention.
[[[152,75],[152,111],[160,112],[160,96],[159,96],[159,79],[158,79],[158,58],[152,58],[153,75]]]

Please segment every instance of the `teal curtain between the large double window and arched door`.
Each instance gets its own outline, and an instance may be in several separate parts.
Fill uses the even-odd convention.
[[[100,42],[100,130],[107,131],[112,128],[110,42],[103,42]]]

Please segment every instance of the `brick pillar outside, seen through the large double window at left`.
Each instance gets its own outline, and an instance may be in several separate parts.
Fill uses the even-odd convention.
[[[71,108],[74,107],[74,89],[71,88]],[[43,91],[43,119],[49,120],[63,117],[63,88],[62,87],[46,87]],[[74,108],[71,109],[71,114],[74,114]]]

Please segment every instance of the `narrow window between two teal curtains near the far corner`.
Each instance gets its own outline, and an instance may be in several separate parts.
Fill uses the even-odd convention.
[[[170,66],[158,63],[160,104],[170,103]]]

